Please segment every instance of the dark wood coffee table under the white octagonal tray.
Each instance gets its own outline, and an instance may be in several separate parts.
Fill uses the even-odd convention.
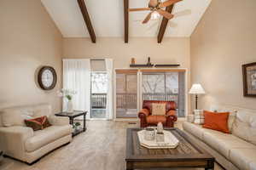
[[[171,131],[179,144],[175,149],[150,150],[139,144],[137,132],[141,128],[128,128],[126,136],[126,170],[154,168],[196,168],[214,169],[214,157],[201,149],[178,128],[166,128]]]

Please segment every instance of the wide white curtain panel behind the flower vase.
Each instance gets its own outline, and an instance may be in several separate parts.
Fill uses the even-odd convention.
[[[63,88],[75,90],[73,109],[88,111],[90,118],[90,59],[63,59]],[[63,111],[67,111],[67,99],[63,99]]]

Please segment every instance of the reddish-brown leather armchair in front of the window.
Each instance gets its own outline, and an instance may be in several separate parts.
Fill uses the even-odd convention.
[[[152,104],[166,104],[166,114],[152,115]],[[164,127],[173,127],[174,122],[177,121],[176,116],[176,103],[174,101],[154,101],[144,100],[143,110],[138,113],[140,118],[141,127],[157,126],[161,122]]]

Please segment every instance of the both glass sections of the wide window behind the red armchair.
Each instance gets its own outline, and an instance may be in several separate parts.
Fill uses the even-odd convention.
[[[177,116],[185,116],[185,72],[117,70],[116,118],[136,118],[143,100],[174,101]]]

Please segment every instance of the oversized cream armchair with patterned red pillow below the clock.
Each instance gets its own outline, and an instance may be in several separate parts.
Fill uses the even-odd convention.
[[[24,119],[48,116],[52,126],[33,131]],[[0,111],[0,149],[6,156],[32,163],[51,150],[72,140],[67,117],[56,117],[47,104],[21,106]]]

